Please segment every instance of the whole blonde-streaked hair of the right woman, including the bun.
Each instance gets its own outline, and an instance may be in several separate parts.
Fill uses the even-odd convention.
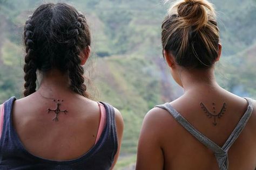
[[[163,21],[161,37],[163,49],[172,52],[178,65],[211,67],[219,51],[214,5],[207,0],[174,1]]]

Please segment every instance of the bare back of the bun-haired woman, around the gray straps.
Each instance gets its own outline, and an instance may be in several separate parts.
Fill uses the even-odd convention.
[[[183,96],[171,102],[172,108],[183,116],[194,129],[213,143],[222,147],[241,117],[245,114],[248,103],[245,99],[223,91],[217,95],[208,95],[211,98],[198,96]],[[212,112],[215,107],[217,115],[223,104],[226,109],[221,117],[208,115],[201,108],[204,103],[207,110]],[[214,105],[213,105],[214,103]],[[254,102],[255,103],[255,102]],[[256,167],[256,107],[244,130],[238,136],[228,151],[229,169],[254,169]],[[218,169],[218,164],[213,151],[203,145],[190,132],[188,132],[166,110],[155,108],[161,120],[159,135],[161,147],[164,150],[166,169]],[[214,125],[215,124],[215,125]],[[204,140],[204,139],[203,139]],[[224,157],[224,156],[223,156]],[[217,158],[218,159],[218,158]],[[183,164],[186,162],[186,164]],[[228,162],[227,162],[228,163]]]

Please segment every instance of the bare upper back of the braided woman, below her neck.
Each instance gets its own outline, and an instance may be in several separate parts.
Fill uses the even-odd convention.
[[[15,101],[13,124],[25,148],[33,154],[53,160],[75,159],[95,143],[99,107],[85,97],[57,100],[63,100],[59,109],[68,111],[66,114],[60,112],[58,121],[53,120],[54,111],[48,112],[48,109],[57,108],[53,100],[31,96]]]

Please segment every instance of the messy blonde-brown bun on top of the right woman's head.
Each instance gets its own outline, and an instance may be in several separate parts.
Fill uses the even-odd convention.
[[[215,17],[213,4],[207,0],[184,0],[176,3],[169,11],[177,9],[178,16],[183,21],[184,27],[194,26],[194,30],[199,30],[208,22],[208,15]]]

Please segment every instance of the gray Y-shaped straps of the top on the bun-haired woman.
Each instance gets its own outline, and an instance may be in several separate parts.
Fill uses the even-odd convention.
[[[176,111],[170,103],[165,103],[163,105],[157,105],[156,107],[165,109],[170,112],[170,114],[176,119],[178,123],[180,123],[188,132],[192,134],[195,138],[197,138],[202,144],[204,144],[207,148],[213,151],[220,170],[227,170],[228,169],[228,157],[227,152],[234,143],[234,141],[238,138],[239,134],[241,133],[242,129],[245,128],[248,119],[252,115],[253,110],[253,102],[251,98],[245,98],[248,102],[248,108],[238,122],[238,125],[235,127],[233,132],[231,133],[230,137],[228,137],[227,141],[223,145],[223,147],[218,146],[212,140],[208,139],[204,136],[204,134],[200,133],[196,130],[187,120]]]

